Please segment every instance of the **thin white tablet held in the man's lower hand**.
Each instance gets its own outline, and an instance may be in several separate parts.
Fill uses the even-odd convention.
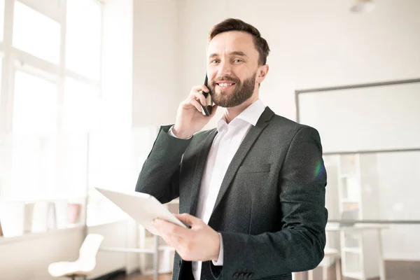
[[[163,204],[161,204],[155,197],[146,193],[139,193],[136,191],[120,192],[116,190],[108,190],[104,188],[95,187],[99,193],[102,193],[111,202],[120,207],[130,217],[146,228],[146,230],[159,235],[151,224],[153,219],[161,218],[169,221],[183,228],[187,228],[174,214],[171,213]]]

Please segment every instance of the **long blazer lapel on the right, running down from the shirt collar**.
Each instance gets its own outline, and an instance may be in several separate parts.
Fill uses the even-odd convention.
[[[268,121],[272,118],[273,115],[274,112],[271,109],[269,109],[269,107],[266,107],[265,111],[262,112],[258,123],[255,125],[255,127],[251,127],[251,130],[249,130],[248,134],[246,134],[244,141],[242,141],[237,153],[235,153],[234,157],[232,158],[232,162],[230,162],[225,177],[223,178],[221,189],[219,190],[218,196],[216,198],[216,203],[214,204],[213,213],[218,207],[218,204],[221,203],[221,200],[223,200],[223,196],[225,195],[226,190],[228,190],[230,183],[232,182],[232,179],[237,172],[237,169],[239,169],[239,166],[244,161],[246,154],[248,154],[248,151],[251,150],[253,143],[256,139],[258,139],[258,136],[261,134],[262,130],[264,130],[264,128],[268,125]]]

